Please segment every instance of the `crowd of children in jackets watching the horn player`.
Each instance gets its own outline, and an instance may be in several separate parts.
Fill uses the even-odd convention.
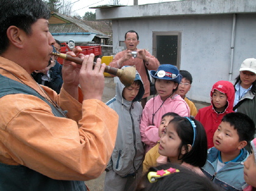
[[[255,93],[255,60],[243,62],[235,86],[216,82],[211,105],[198,113],[186,97],[190,72],[171,64],[150,71],[157,94],[144,109],[140,75],[128,87],[118,82],[116,97],[107,102],[119,114],[119,127],[105,190],[255,190],[255,119],[233,111],[246,94],[239,96],[241,89]]]

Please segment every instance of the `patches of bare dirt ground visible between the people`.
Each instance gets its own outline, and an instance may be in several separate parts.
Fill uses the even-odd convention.
[[[104,93],[102,97],[102,102],[107,102],[108,100],[112,99],[115,97],[115,82],[113,80],[113,77],[105,77],[105,88],[104,88]],[[151,97],[150,97],[151,98]],[[205,106],[210,105],[209,103],[205,102],[194,102],[196,105],[197,109],[201,109]],[[87,184],[88,188],[91,191],[101,191],[104,190],[104,179],[105,179],[105,172],[102,173],[99,178],[86,181],[85,184]]]

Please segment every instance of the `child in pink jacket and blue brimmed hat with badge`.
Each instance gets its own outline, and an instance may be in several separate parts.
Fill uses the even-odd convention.
[[[158,127],[163,114],[174,112],[182,117],[190,116],[190,108],[176,91],[182,79],[179,70],[171,64],[162,64],[157,71],[150,71],[155,79],[155,89],[158,96],[154,96],[143,109],[140,122],[141,141],[144,142],[145,154],[160,140]]]

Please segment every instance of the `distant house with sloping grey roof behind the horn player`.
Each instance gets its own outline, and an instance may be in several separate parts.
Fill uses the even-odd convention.
[[[109,36],[85,24],[84,21],[52,13],[49,19],[49,31],[55,39],[68,43],[74,40],[76,44],[108,44]]]

